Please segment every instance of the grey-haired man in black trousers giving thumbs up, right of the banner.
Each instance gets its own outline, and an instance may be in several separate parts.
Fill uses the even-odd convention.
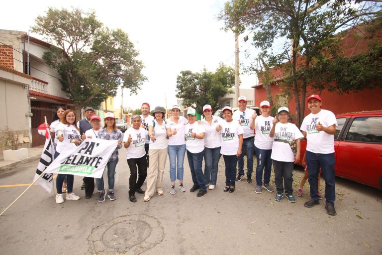
[[[130,168],[129,200],[137,202],[135,191],[145,194],[141,187],[147,176],[145,137],[148,135],[148,132],[141,128],[142,120],[139,115],[131,117],[131,122],[132,127],[127,129],[123,135],[123,145],[126,148],[126,159]]]

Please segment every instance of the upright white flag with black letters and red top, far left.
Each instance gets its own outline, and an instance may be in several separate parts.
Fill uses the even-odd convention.
[[[44,149],[42,150],[42,153],[41,153],[40,161],[38,162],[38,165],[37,165],[37,170],[34,175],[33,181],[36,180],[45,171],[45,169],[53,162],[54,152],[55,152],[54,144],[50,137],[48,125],[46,125],[45,123],[41,124],[40,126],[38,126],[37,131],[39,134],[44,135],[46,140],[45,140]],[[37,180],[36,183],[38,183],[41,187],[43,187],[49,193],[52,193],[53,174],[44,173],[41,176],[41,178]]]

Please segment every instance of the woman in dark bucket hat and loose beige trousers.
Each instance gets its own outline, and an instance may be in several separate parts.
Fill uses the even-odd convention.
[[[149,123],[149,158],[151,160],[149,161],[147,171],[147,188],[145,197],[143,198],[145,202],[153,197],[155,190],[158,195],[163,195],[162,181],[167,159],[167,146],[169,143],[163,108],[157,106],[154,109],[153,116],[154,120]]]

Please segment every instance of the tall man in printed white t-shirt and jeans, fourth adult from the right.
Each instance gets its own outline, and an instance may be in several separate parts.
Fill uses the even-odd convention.
[[[234,121],[239,121],[241,127],[244,130],[243,133],[243,145],[240,154],[237,159],[238,173],[236,181],[241,181],[244,176],[244,147],[247,152],[247,182],[252,182],[252,172],[253,172],[253,147],[254,147],[254,137],[255,133],[253,129],[255,128],[255,119],[257,114],[255,110],[247,108],[247,99],[244,96],[238,98],[239,110],[235,111],[232,115]]]

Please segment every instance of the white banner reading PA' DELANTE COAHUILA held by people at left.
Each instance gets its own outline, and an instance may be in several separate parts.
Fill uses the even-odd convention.
[[[101,178],[117,144],[118,140],[99,138],[87,138],[79,146],[70,143],[45,172]]]

